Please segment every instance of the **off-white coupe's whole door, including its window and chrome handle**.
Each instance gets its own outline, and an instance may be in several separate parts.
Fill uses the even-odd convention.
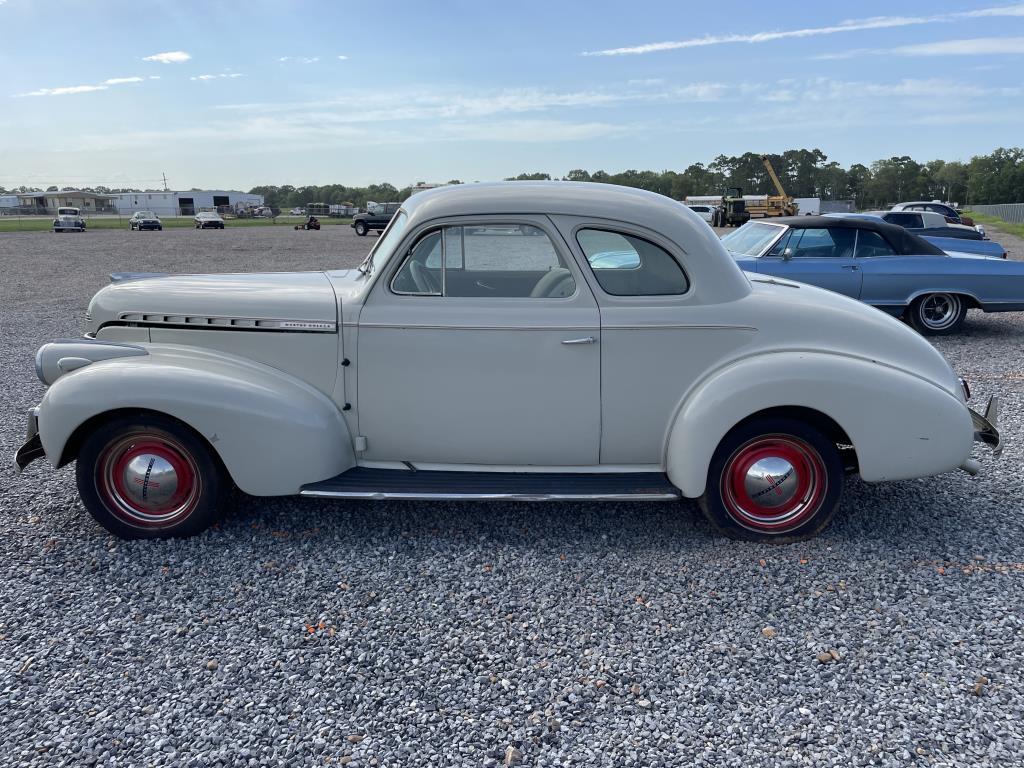
[[[600,322],[545,217],[411,236],[358,321],[361,459],[592,466]]]

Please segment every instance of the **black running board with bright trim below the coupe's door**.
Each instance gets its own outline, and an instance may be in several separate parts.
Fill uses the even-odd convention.
[[[660,472],[437,472],[355,467],[303,485],[331,499],[493,501],[665,501],[679,489]]]

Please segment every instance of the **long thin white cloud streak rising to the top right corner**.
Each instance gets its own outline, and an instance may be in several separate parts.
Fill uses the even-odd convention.
[[[603,50],[584,51],[585,56],[626,56],[656,51],[678,50],[680,48],[699,48],[709,45],[725,45],[729,43],[766,43],[773,40],[792,38],[818,37],[836,35],[842,32],[860,32],[864,30],[884,30],[898,27],[914,27],[919,25],[951,22],[958,18],[991,16],[1024,16],[1024,3],[1004,5],[991,8],[980,8],[973,11],[940,13],[930,16],[871,16],[840,22],[826,27],[808,27],[800,30],[755,32],[748,35],[707,35],[705,37],[687,38],[685,40],[670,40],[660,43],[644,43],[622,48],[605,48]]]

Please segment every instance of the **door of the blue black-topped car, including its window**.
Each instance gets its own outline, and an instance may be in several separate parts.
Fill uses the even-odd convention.
[[[848,226],[791,228],[758,259],[758,271],[857,298],[861,274],[854,259],[856,239],[857,230]]]

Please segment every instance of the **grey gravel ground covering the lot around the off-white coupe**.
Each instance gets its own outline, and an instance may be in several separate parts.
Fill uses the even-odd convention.
[[[3,236],[0,453],[42,393],[34,350],[80,332],[108,272],[350,265],[372,242],[347,227]],[[290,499],[247,500],[196,539],[127,543],[84,512],[71,468],[5,467],[0,756],[1022,765],[1022,331],[1024,315],[972,312],[938,342],[976,402],[1002,394],[1000,459],[979,451],[977,478],[852,480],[802,545],[716,538],[689,503]]]

